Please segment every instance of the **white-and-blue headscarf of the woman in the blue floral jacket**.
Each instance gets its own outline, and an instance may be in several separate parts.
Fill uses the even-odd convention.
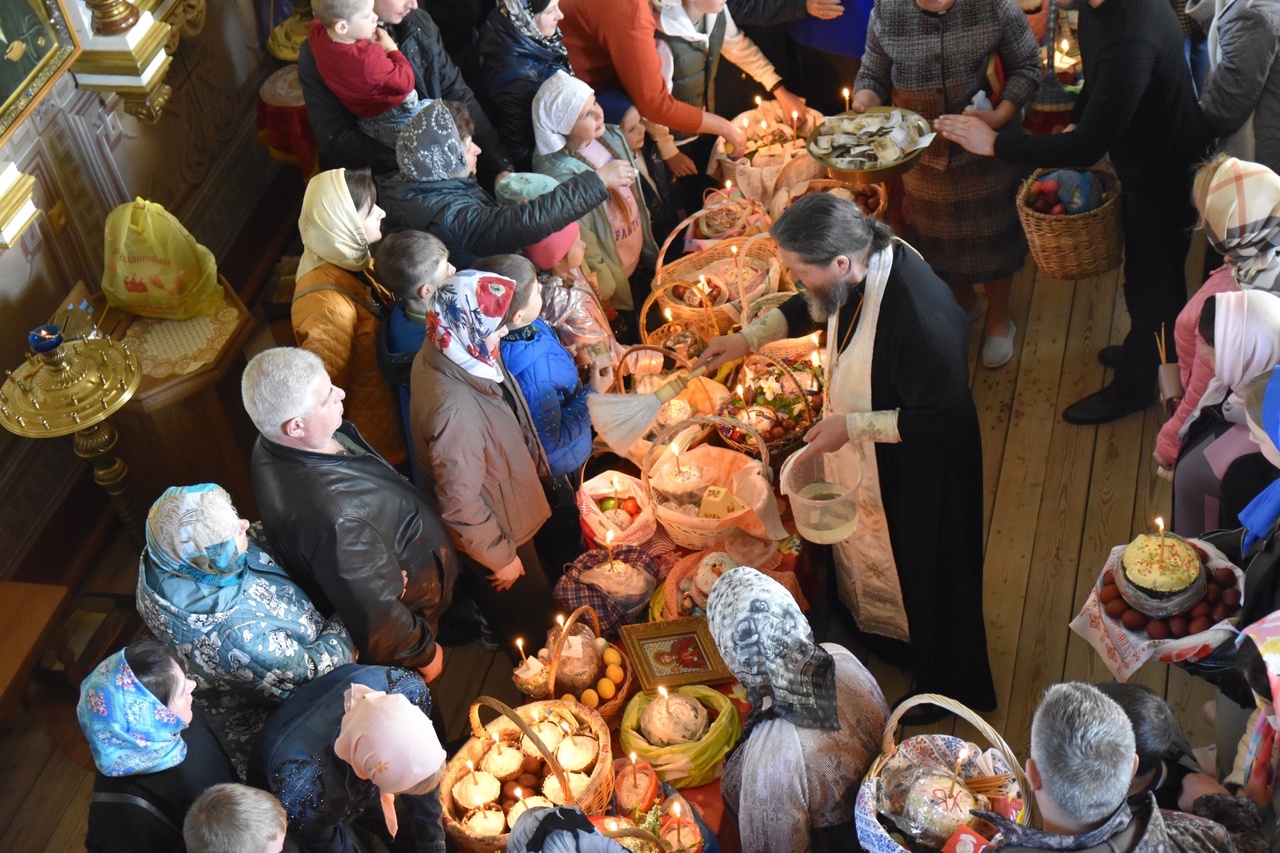
[[[147,512],[146,557],[161,571],[206,587],[230,587],[248,566],[236,546],[238,532],[236,505],[220,485],[175,485]]]

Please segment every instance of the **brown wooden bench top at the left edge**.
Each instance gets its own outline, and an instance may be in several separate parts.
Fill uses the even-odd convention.
[[[27,676],[61,628],[67,588],[0,580],[0,719],[27,686]]]

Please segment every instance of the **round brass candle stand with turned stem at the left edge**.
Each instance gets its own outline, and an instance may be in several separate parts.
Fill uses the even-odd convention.
[[[115,455],[116,432],[106,420],[142,382],[137,356],[105,337],[67,341],[52,324],[32,329],[27,342],[26,364],[5,370],[0,425],[24,438],[72,435],[76,455],[92,462],[93,482],[111,497],[125,533],[141,548],[142,516],[128,496],[129,471]]]

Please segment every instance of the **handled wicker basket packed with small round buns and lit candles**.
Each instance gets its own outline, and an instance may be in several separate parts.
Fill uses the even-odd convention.
[[[480,707],[500,716],[481,725]],[[492,697],[471,703],[472,736],[440,780],[444,830],[458,848],[504,850],[530,808],[577,806],[600,815],[613,800],[608,726],[573,701],[531,702],[512,710]]]

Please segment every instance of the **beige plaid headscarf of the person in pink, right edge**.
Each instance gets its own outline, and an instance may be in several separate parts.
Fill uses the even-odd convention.
[[[1197,199],[1204,231],[1242,289],[1280,289],[1280,175],[1228,158]]]

